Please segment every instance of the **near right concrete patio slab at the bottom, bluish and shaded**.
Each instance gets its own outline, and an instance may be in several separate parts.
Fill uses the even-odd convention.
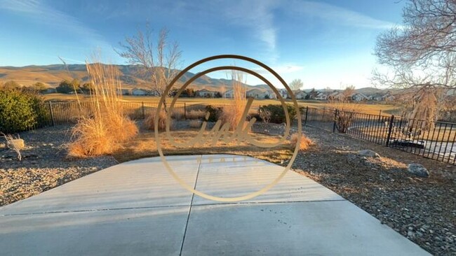
[[[349,201],[307,201],[192,206],[182,255],[428,254]]]

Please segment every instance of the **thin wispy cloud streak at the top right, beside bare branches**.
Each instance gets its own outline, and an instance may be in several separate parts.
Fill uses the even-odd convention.
[[[396,24],[392,22],[377,20],[354,10],[323,2],[290,0],[289,4],[286,6],[288,10],[294,13],[299,13],[306,17],[319,17],[336,24],[369,29],[389,29],[396,26]]]

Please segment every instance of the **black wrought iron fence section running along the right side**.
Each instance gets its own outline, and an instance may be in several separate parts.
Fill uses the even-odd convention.
[[[306,108],[305,125],[456,164],[456,123]]]

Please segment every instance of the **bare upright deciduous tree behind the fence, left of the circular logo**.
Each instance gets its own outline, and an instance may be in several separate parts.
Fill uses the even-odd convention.
[[[182,52],[177,42],[168,41],[168,29],[161,29],[156,45],[152,43],[152,31],[147,25],[145,32],[138,30],[135,36],[119,43],[122,50],[116,52],[130,64],[140,66],[139,74],[151,82],[152,90],[160,97],[178,73],[177,65]],[[169,95],[166,95],[169,96]],[[165,101],[166,110],[166,101]]]

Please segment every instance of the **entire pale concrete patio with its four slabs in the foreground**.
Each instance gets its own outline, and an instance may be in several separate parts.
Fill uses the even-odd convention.
[[[219,197],[254,192],[283,171],[250,157],[197,157],[167,159],[188,184]],[[0,255],[429,254],[293,171],[266,194],[221,203],[182,188],[154,157],[1,207]]]

